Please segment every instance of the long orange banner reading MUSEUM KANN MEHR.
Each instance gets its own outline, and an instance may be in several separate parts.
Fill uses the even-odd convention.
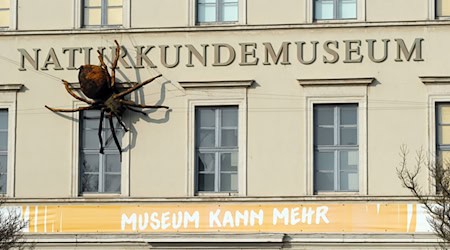
[[[183,203],[23,206],[30,233],[416,232],[416,204]]]

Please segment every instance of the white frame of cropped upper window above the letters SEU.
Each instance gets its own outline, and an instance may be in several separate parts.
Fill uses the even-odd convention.
[[[356,0],[356,18],[354,19],[319,19],[314,16],[315,0],[306,1],[306,21],[308,23],[351,23],[366,21],[366,0]]]

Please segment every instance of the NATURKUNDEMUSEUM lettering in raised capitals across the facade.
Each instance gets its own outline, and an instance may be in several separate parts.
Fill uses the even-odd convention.
[[[136,45],[122,47],[119,57],[124,68],[175,68],[175,67],[224,67],[232,64],[240,66],[256,65],[310,65],[313,63],[333,64],[362,63],[365,60],[382,63],[424,61],[422,46],[424,39],[413,41],[404,39],[327,40],[295,41],[273,44],[270,42],[242,42],[236,44],[174,44]],[[76,70],[78,65],[91,64],[96,51],[114,57],[115,46],[105,47],[64,47],[19,48],[20,68],[34,70]],[[391,57],[391,58],[389,58]]]

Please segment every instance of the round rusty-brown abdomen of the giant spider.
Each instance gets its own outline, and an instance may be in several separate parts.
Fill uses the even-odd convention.
[[[83,65],[78,73],[83,94],[94,100],[105,100],[112,95],[108,72],[97,65]]]

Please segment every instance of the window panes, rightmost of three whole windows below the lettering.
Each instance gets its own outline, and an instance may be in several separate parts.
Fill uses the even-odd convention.
[[[314,105],[314,192],[357,192],[358,106]]]

